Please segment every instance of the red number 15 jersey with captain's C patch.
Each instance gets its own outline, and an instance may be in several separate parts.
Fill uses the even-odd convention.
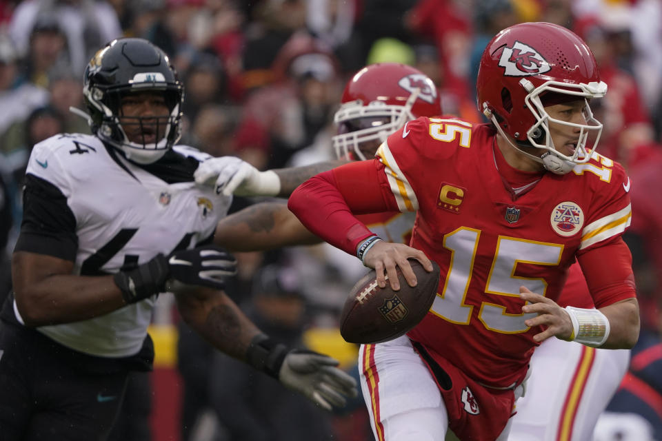
[[[535,314],[521,313],[519,287],[558,300],[575,254],[630,225],[630,198],[623,167],[594,153],[513,201],[494,148],[489,125],[425,118],[392,134],[377,156],[384,196],[418,212],[410,245],[441,267],[437,299],[410,338],[506,387],[521,380],[541,331],[524,324]]]

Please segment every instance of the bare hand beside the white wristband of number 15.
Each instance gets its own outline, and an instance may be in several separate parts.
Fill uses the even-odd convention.
[[[528,302],[522,307],[523,313],[538,314],[536,317],[525,320],[524,324],[528,327],[543,326],[545,328],[544,331],[533,336],[535,342],[543,342],[554,336],[570,341],[572,320],[565,309],[557,305],[554,300],[536,294],[526,287],[519,287],[519,297]]]

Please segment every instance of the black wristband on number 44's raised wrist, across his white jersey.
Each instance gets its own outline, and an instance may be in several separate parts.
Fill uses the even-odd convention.
[[[152,260],[128,271],[119,271],[113,276],[115,285],[122,291],[127,304],[139,302],[145,298],[165,291],[168,280],[168,259],[157,254]]]

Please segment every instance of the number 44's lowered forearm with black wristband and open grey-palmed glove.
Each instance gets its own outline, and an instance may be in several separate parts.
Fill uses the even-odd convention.
[[[272,340],[222,291],[200,288],[177,296],[183,319],[214,347],[277,378],[324,409],[343,407],[357,396],[357,384],[321,353],[299,351]]]

